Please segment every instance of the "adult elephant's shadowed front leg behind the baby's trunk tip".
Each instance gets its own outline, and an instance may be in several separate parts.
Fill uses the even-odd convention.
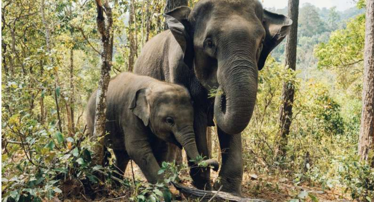
[[[207,130],[207,116],[203,112],[195,110],[194,112],[194,130],[196,135],[196,144],[198,147],[199,154],[203,157],[209,157],[208,151],[208,144],[206,138],[206,130]],[[206,189],[211,190],[212,186],[210,183],[210,169],[209,168],[199,168],[193,166],[194,163],[189,161],[190,166],[190,175],[193,180],[193,184],[198,189]]]

